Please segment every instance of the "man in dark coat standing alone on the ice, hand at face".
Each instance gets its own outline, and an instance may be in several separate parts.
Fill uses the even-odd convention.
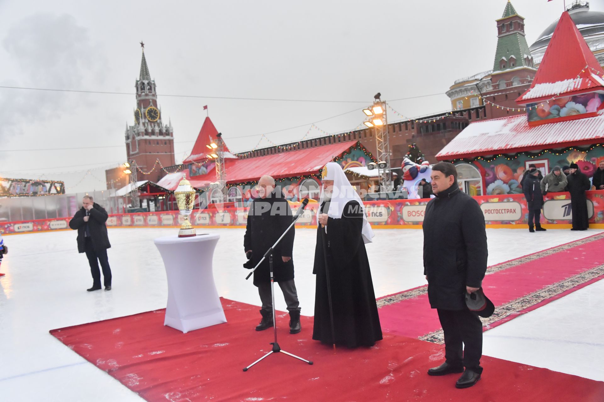
[[[91,196],[82,199],[83,207],[69,221],[69,227],[77,230],[77,250],[86,253],[90,272],[92,273],[92,287],[87,291],[101,289],[101,272],[98,264],[103,268],[103,282],[106,291],[111,291],[111,268],[107,258],[107,249],[111,247],[107,235],[108,215],[103,207],[94,202]]]

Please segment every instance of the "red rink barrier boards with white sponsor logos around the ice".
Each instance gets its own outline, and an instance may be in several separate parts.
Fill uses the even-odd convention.
[[[604,190],[588,191],[587,204],[591,228],[604,228]],[[485,217],[487,228],[527,228],[528,206],[523,194],[487,195],[473,197]],[[423,215],[429,199],[397,199],[365,203],[367,220],[376,229],[422,228]],[[296,213],[300,203],[291,203]],[[316,228],[318,203],[309,204],[297,228]],[[570,194],[548,193],[544,197],[541,223],[545,228],[571,227]],[[19,222],[0,222],[1,234],[37,233],[69,230],[69,218],[37,219]],[[245,228],[247,208],[231,207],[223,210],[193,212],[191,224],[203,228]],[[108,228],[178,228],[184,218],[178,211],[123,213],[109,215]]]

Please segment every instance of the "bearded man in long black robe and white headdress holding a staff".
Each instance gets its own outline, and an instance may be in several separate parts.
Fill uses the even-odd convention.
[[[313,269],[316,294],[312,339],[349,348],[373,346],[382,339],[365,250],[373,231],[361,198],[338,163],[330,162],[323,168],[320,208]]]

